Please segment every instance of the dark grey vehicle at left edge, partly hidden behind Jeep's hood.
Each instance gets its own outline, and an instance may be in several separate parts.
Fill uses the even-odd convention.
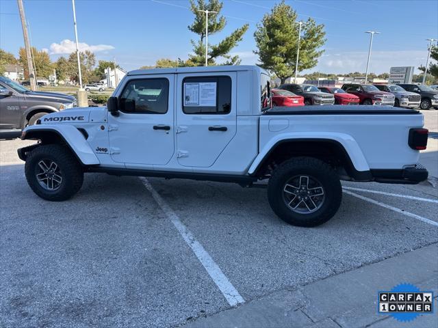
[[[29,91],[0,76],[0,137],[18,137],[22,128],[35,124],[47,113],[75,106],[77,101],[73,96]]]

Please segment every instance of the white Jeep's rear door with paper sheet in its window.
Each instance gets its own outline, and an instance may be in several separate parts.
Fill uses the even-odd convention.
[[[236,133],[235,72],[178,74],[177,159],[210,167]]]

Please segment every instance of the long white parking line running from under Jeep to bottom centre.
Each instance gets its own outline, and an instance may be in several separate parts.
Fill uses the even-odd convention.
[[[163,198],[157,193],[157,191],[153,189],[151,183],[149,183],[149,181],[143,177],[141,177],[140,180],[142,180],[144,187],[146,187],[146,189],[148,189],[149,192],[152,194],[155,202],[157,202],[159,207],[162,208],[163,212],[166,213],[170,221],[172,221],[175,228],[177,228],[177,230],[183,237],[185,243],[189,245],[198,260],[201,262],[201,264],[203,264],[203,267],[205,268],[211,279],[213,279],[216,286],[218,286],[219,290],[222,292],[222,295],[224,295],[225,299],[227,299],[229,305],[235,306],[237,304],[244,303],[245,300],[242,296],[240,296],[239,292],[237,292],[227,276],[224,275],[218,264],[214,262],[211,256],[204,249],[203,245],[196,241],[192,232],[190,232],[188,228],[184,226],[178,215],[172,210],[172,208],[170,208],[170,206],[163,200]]]

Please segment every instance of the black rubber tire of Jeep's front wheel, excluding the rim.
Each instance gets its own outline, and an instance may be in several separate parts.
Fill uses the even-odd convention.
[[[60,167],[62,182],[57,190],[44,189],[36,178],[38,163],[42,160],[55,162]],[[26,159],[25,174],[27,183],[44,200],[60,202],[68,200],[82,187],[83,169],[75,156],[58,144],[42,145],[32,150]]]

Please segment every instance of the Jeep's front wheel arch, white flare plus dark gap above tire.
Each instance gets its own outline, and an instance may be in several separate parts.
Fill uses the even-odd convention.
[[[86,137],[75,126],[28,126],[21,139],[40,140],[40,144],[59,143],[76,156],[81,165],[99,165],[100,161],[86,141]]]

